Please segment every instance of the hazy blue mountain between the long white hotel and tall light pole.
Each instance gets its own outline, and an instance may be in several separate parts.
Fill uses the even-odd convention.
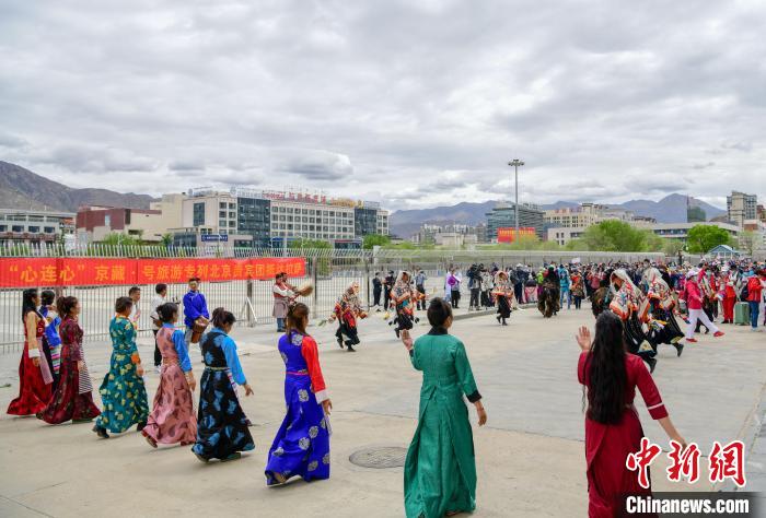
[[[450,207],[433,209],[413,209],[396,211],[388,217],[388,228],[395,236],[407,239],[420,229],[423,223],[432,225],[478,225],[486,223],[487,212],[491,211],[497,201],[484,203],[462,202]]]

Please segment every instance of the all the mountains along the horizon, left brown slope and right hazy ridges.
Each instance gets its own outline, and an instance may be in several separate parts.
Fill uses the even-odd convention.
[[[708,220],[726,214],[726,211],[695,198],[692,202],[703,209]],[[80,205],[126,207],[148,209],[154,199],[148,195],[121,193],[107,189],[72,189],[49,180],[24,167],[0,161],[0,209],[33,209],[77,212]],[[388,226],[393,235],[407,238],[418,232],[420,225],[477,225],[486,223],[486,214],[498,201],[481,203],[461,202],[449,207],[410,209],[391,214]],[[384,203],[385,205],[385,203]],[[542,209],[578,207],[573,201],[557,201],[541,205]],[[654,217],[659,223],[686,221],[686,196],[669,195],[660,201],[630,200],[611,207],[634,211],[636,215]]]

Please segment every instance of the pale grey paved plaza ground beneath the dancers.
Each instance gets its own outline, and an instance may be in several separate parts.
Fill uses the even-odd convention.
[[[545,320],[535,309],[514,313],[501,328],[491,316],[455,321],[466,344],[489,421],[474,428],[477,517],[585,516],[582,391],[577,382],[578,326],[593,325],[589,308]],[[427,326],[416,329],[425,333]],[[766,491],[764,417],[766,333],[728,326],[723,339],[701,337],[677,358],[661,346],[654,373],[671,417],[704,454],[712,440],[746,440],[751,491]],[[380,314],[361,325],[356,354],[338,349],[330,327],[313,327],[333,399],[332,478],[268,488],[266,452],[283,417],[283,364],[278,334],[262,326],[232,334],[255,396],[243,399],[256,449],[231,463],[202,464],[188,447],[150,448],[136,432],[97,439],[88,424],[46,425],[34,417],[0,417],[0,516],[334,516],[404,515],[402,468],[361,468],[349,456],[365,447],[406,447],[416,427],[420,374]],[[150,339],[142,338],[144,364]],[[201,374],[194,351],[195,373]],[[98,385],[108,365],[106,343],[86,357]],[[0,405],[15,397],[18,354],[0,356]],[[149,369],[148,369],[149,370]],[[150,401],[159,376],[147,375]],[[97,397],[96,397],[97,399]],[[100,403],[100,401],[96,401]],[[636,404],[647,435],[668,439]],[[475,412],[471,409],[472,421]],[[703,459],[706,468],[707,459]],[[671,484],[664,456],[653,466],[655,491],[704,491]],[[704,470],[705,472],[705,470]],[[718,488],[718,487],[716,487]],[[726,487],[724,487],[726,488]]]

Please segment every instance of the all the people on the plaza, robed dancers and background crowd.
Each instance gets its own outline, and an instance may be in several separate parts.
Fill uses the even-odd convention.
[[[692,267],[646,260],[632,264],[545,264],[537,271],[522,264],[511,269],[473,264],[465,278],[468,310],[496,307],[497,320],[503,326],[519,303],[537,302],[544,317],[553,317],[565,302],[567,309],[573,310],[581,309],[585,298],[591,302],[595,332],[591,337],[582,327],[577,337],[582,350],[577,375],[587,408],[591,516],[613,516],[620,495],[650,491],[637,485],[635,474],[625,466],[626,457],[639,449],[642,436],[632,405],[636,388],[651,417],[671,439],[686,447],[651,376],[658,346],[670,344],[681,356],[682,340],[695,343],[695,333],[701,328],[705,333],[722,337],[715,323],[719,319],[722,325],[747,323],[759,330],[764,315],[766,325],[766,268],[754,262],[711,261]],[[426,281],[421,270],[415,274],[388,272],[373,280],[372,307],[380,306],[380,296],[385,294],[384,310],[392,311],[388,323],[408,351],[413,367],[422,372],[418,425],[404,474],[405,508],[410,517],[475,508],[476,466],[465,400],[475,407],[479,425],[487,421],[466,348],[449,333],[453,309],[460,307],[461,270],[450,269],[444,296],[430,297],[428,305]],[[103,439],[136,426],[151,447],[190,446],[202,462],[227,462],[253,450],[251,423],[240,402],[240,392],[251,396],[253,389],[230,335],[236,319],[220,307],[210,314],[199,284],[199,279],[189,279],[183,306],[167,301],[165,284],[155,286],[151,319],[160,384],[151,405],[136,344],[140,289],[134,286],[128,296],[117,298],[109,325],[109,369],[98,388],[101,409],[92,396],[78,320],[79,301],[57,298],[49,291],[24,291],[20,390],[8,413],[36,415],[50,424],[95,420],[93,431]],[[359,284],[351,283],[326,320],[337,321],[335,337],[348,351],[360,343],[358,322],[368,316],[359,291]],[[310,292],[310,286],[291,285],[283,273],[275,279],[274,316],[286,369],[286,415],[268,450],[268,485],[285,484],[293,476],[306,481],[329,476],[328,417],[333,405],[317,343],[307,332],[309,307],[298,302]],[[426,307],[430,331],[414,340],[417,310]],[[676,319],[685,321],[685,332]],[[189,357],[192,344],[198,344],[205,365],[199,384]]]

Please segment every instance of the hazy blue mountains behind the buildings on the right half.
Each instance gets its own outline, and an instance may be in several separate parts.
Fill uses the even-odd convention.
[[[669,195],[660,201],[630,200],[625,203],[612,203],[610,207],[632,211],[636,215],[653,217],[658,223],[686,222],[686,196]],[[726,215],[727,211],[706,203],[696,198],[689,198],[693,207],[705,211],[707,221]],[[436,207],[433,209],[414,209],[397,211],[391,214],[388,225],[392,234],[408,238],[417,233],[420,225],[429,223],[433,225],[448,225],[451,223],[464,225],[477,225],[486,223],[485,214],[492,210],[497,201],[484,203],[457,203],[451,207]],[[567,209],[578,207],[574,201],[557,201],[542,204],[542,210]]]

